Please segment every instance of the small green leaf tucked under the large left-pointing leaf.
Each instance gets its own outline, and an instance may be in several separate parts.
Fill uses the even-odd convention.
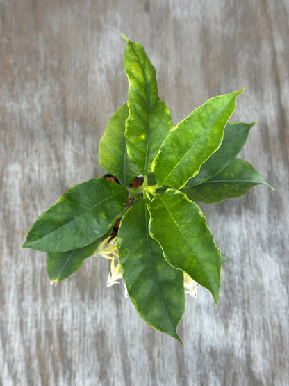
[[[49,280],[56,284],[60,280],[68,278],[72,273],[81,268],[83,260],[90,257],[97,250],[98,239],[89,246],[68,250],[67,252],[48,252],[47,253],[47,273]]]

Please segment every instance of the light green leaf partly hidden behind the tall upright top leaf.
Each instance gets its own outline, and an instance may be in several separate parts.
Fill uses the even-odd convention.
[[[140,175],[140,170],[129,160],[126,152],[124,130],[129,116],[127,104],[119,107],[108,122],[99,143],[99,165],[129,187],[130,182]]]

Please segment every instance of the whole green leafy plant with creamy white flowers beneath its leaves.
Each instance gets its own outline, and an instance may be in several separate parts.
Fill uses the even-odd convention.
[[[47,252],[52,284],[87,257],[110,259],[108,287],[123,278],[142,319],[180,340],[185,292],[196,296],[205,287],[217,305],[229,259],[195,202],[215,204],[270,185],[236,158],[256,123],[228,123],[243,90],[209,99],[173,127],[154,66],[142,45],[123,37],[129,98],[99,143],[99,165],[113,177],[69,188],[38,217],[23,247]]]

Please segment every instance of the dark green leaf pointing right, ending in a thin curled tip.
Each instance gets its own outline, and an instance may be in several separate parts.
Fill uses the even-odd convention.
[[[236,158],[212,179],[208,179],[208,181],[197,186],[188,188],[185,186],[182,191],[192,201],[202,202],[203,204],[218,204],[227,198],[245,195],[250,188],[258,184],[272,188],[256,172],[251,163]]]

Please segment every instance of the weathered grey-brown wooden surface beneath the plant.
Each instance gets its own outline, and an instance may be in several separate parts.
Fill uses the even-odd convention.
[[[289,1],[1,0],[0,384],[288,385]],[[203,206],[224,266],[220,305],[187,299],[185,346],[149,328],[88,259],[52,288],[33,220],[103,172],[97,147],[126,101],[125,42],[156,65],[174,124],[245,87],[242,156],[276,187]]]

